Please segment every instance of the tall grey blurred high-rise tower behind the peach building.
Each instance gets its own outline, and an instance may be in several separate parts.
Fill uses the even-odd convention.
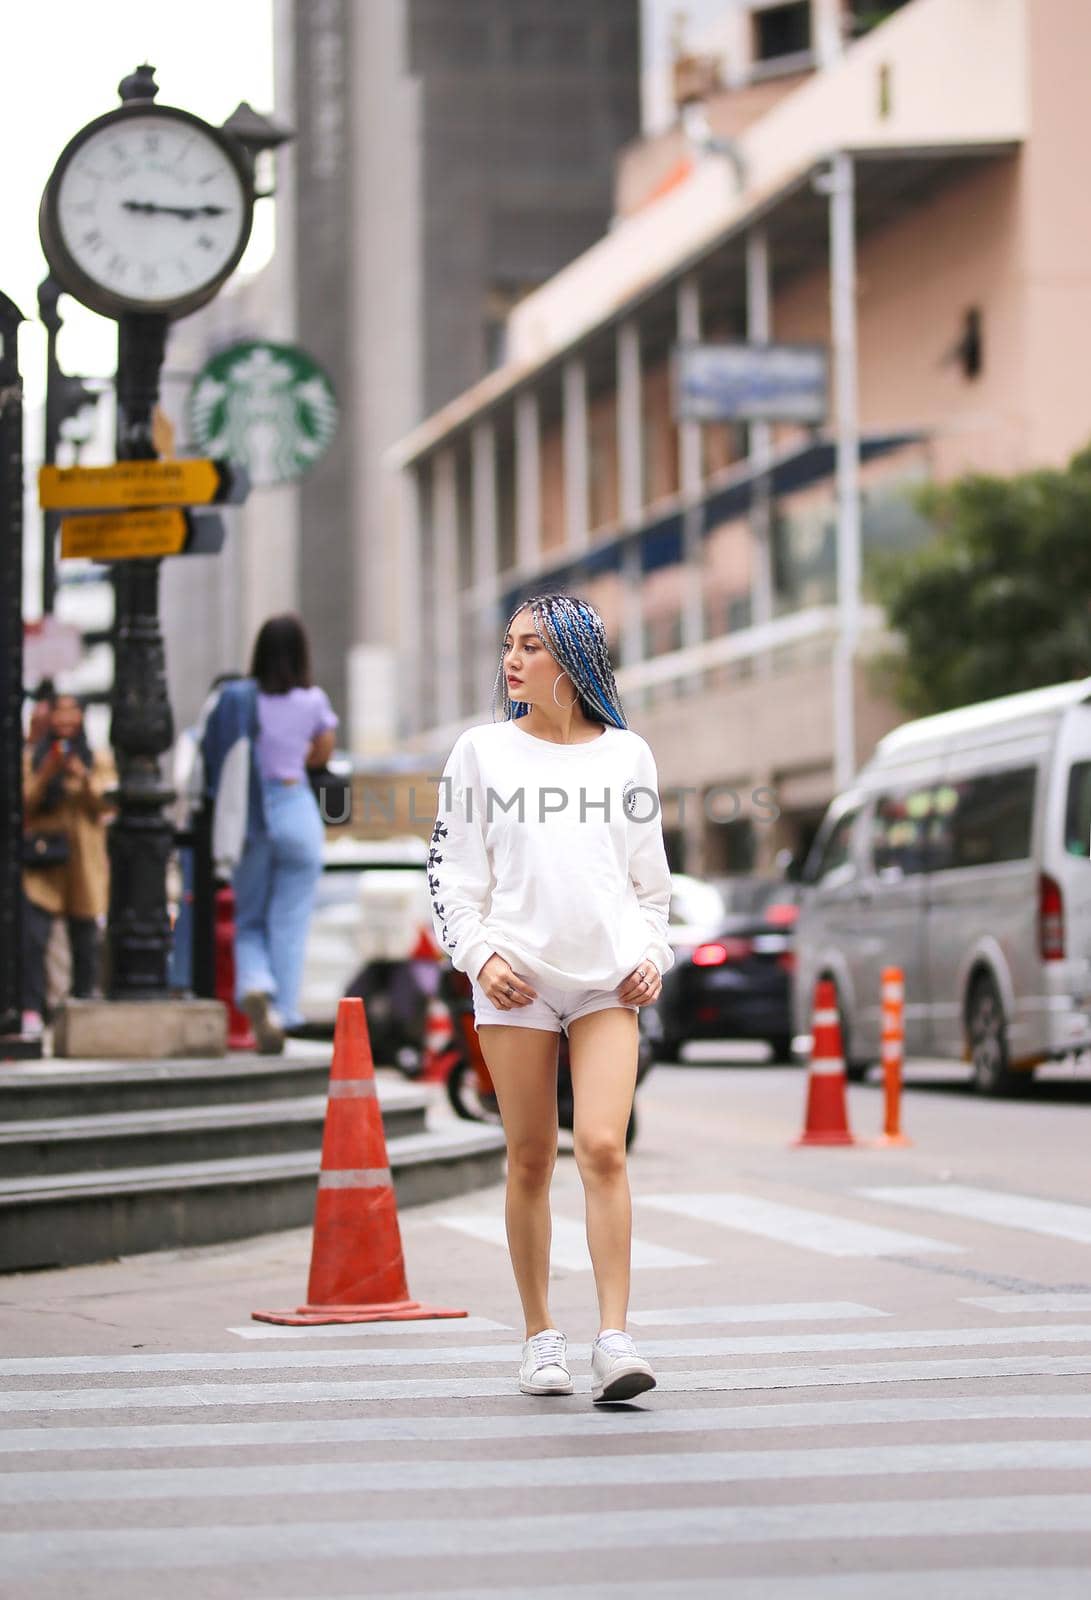
[[[606,229],[640,125],[638,0],[290,5],[296,336],[342,422],[301,485],[299,608],[346,742],[397,728],[386,450],[504,357],[506,317]]]

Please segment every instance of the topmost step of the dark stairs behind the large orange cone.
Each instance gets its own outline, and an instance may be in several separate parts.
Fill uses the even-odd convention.
[[[0,1123],[296,1099],[325,1094],[328,1082],[330,1050],[291,1045],[283,1056],[235,1054],[210,1061],[5,1062]]]

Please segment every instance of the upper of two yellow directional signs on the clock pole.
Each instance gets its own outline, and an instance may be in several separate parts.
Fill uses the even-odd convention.
[[[125,506],[211,506],[240,499],[245,474],[227,462],[118,461],[112,467],[42,467],[38,499],[45,510],[107,510]]]

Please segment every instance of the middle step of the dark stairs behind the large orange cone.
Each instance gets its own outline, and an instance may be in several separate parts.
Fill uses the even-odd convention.
[[[424,1131],[427,1094],[422,1090],[387,1083],[379,1091],[379,1102],[389,1139]],[[318,1150],[325,1120],[325,1094],[38,1122],[19,1118],[0,1123],[0,1173],[50,1178],[114,1166]]]

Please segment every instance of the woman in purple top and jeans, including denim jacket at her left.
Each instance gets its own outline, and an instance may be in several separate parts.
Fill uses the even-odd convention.
[[[205,723],[213,856],[221,870],[232,869],[235,890],[235,997],[262,1054],[278,1054],[285,1029],[302,1021],[299,982],[323,842],[307,770],[330,760],[336,726],[291,613],[262,622],[250,677],[224,685]]]

